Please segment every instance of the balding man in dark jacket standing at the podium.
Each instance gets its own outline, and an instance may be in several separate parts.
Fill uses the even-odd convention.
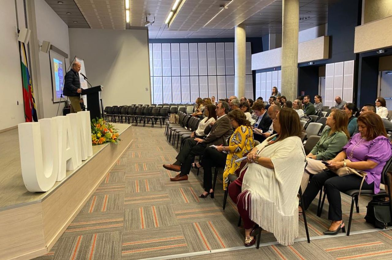
[[[79,71],[82,65],[78,61],[72,63],[72,69],[70,69],[64,77],[64,90],[63,95],[69,98],[71,101],[71,113],[76,113],[82,111],[79,104],[80,93],[82,89],[80,88],[80,78]]]

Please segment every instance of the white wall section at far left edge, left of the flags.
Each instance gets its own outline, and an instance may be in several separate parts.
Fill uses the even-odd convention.
[[[2,0],[0,7],[0,130],[25,121],[21,77],[15,2],[14,0]]]

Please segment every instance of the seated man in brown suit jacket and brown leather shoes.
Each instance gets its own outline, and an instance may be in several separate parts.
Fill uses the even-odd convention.
[[[185,140],[180,153],[178,153],[177,161],[173,164],[163,164],[163,168],[174,172],[180,172],[176,177],[170,178],[171,181],[183,181],[188,179],[191,171],[191,164],[194,162],[196,155],[202,155],[205,148],[212,144],[226,145],[227,138],[233,133],[233,127],[230,124],[226,114],[229,112],[229,104],[227,102],[218,103],[216,107],[216,115],[218,119],[212,126],[207,126],[204,133],[207,136],[204,139],[188,138]]]

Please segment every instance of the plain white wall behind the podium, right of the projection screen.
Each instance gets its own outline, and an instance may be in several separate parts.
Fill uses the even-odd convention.
[[[91,85],[104,87],[104,106],[150,103],[147,30],[70,28],[69,45],[71,57],[84,60]]]

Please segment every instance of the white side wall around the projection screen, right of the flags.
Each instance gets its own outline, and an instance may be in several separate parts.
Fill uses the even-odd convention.
[[[36,96],[38,95],[38,100],[36,99],[36,101],[38,101],[40,106],[40,118],[53,117],[57,114],[58,103],[53,104],[49,53],[40,51],[39,45],[43,41],[47,41],[69,55],[68,26],[45,0],[35,0],[34,9],[35,28],[32,29],[33,31],[36,30],[36,39],[34,39],[36,44],[31,51],[34,51],[34,57],[37,59],[34,64],[38,73],[35,79],[34,91]],[[68,67],[69,59],[66,60],[66,65]],[[62,107],[64,105],[61,105],[60,109]]]

